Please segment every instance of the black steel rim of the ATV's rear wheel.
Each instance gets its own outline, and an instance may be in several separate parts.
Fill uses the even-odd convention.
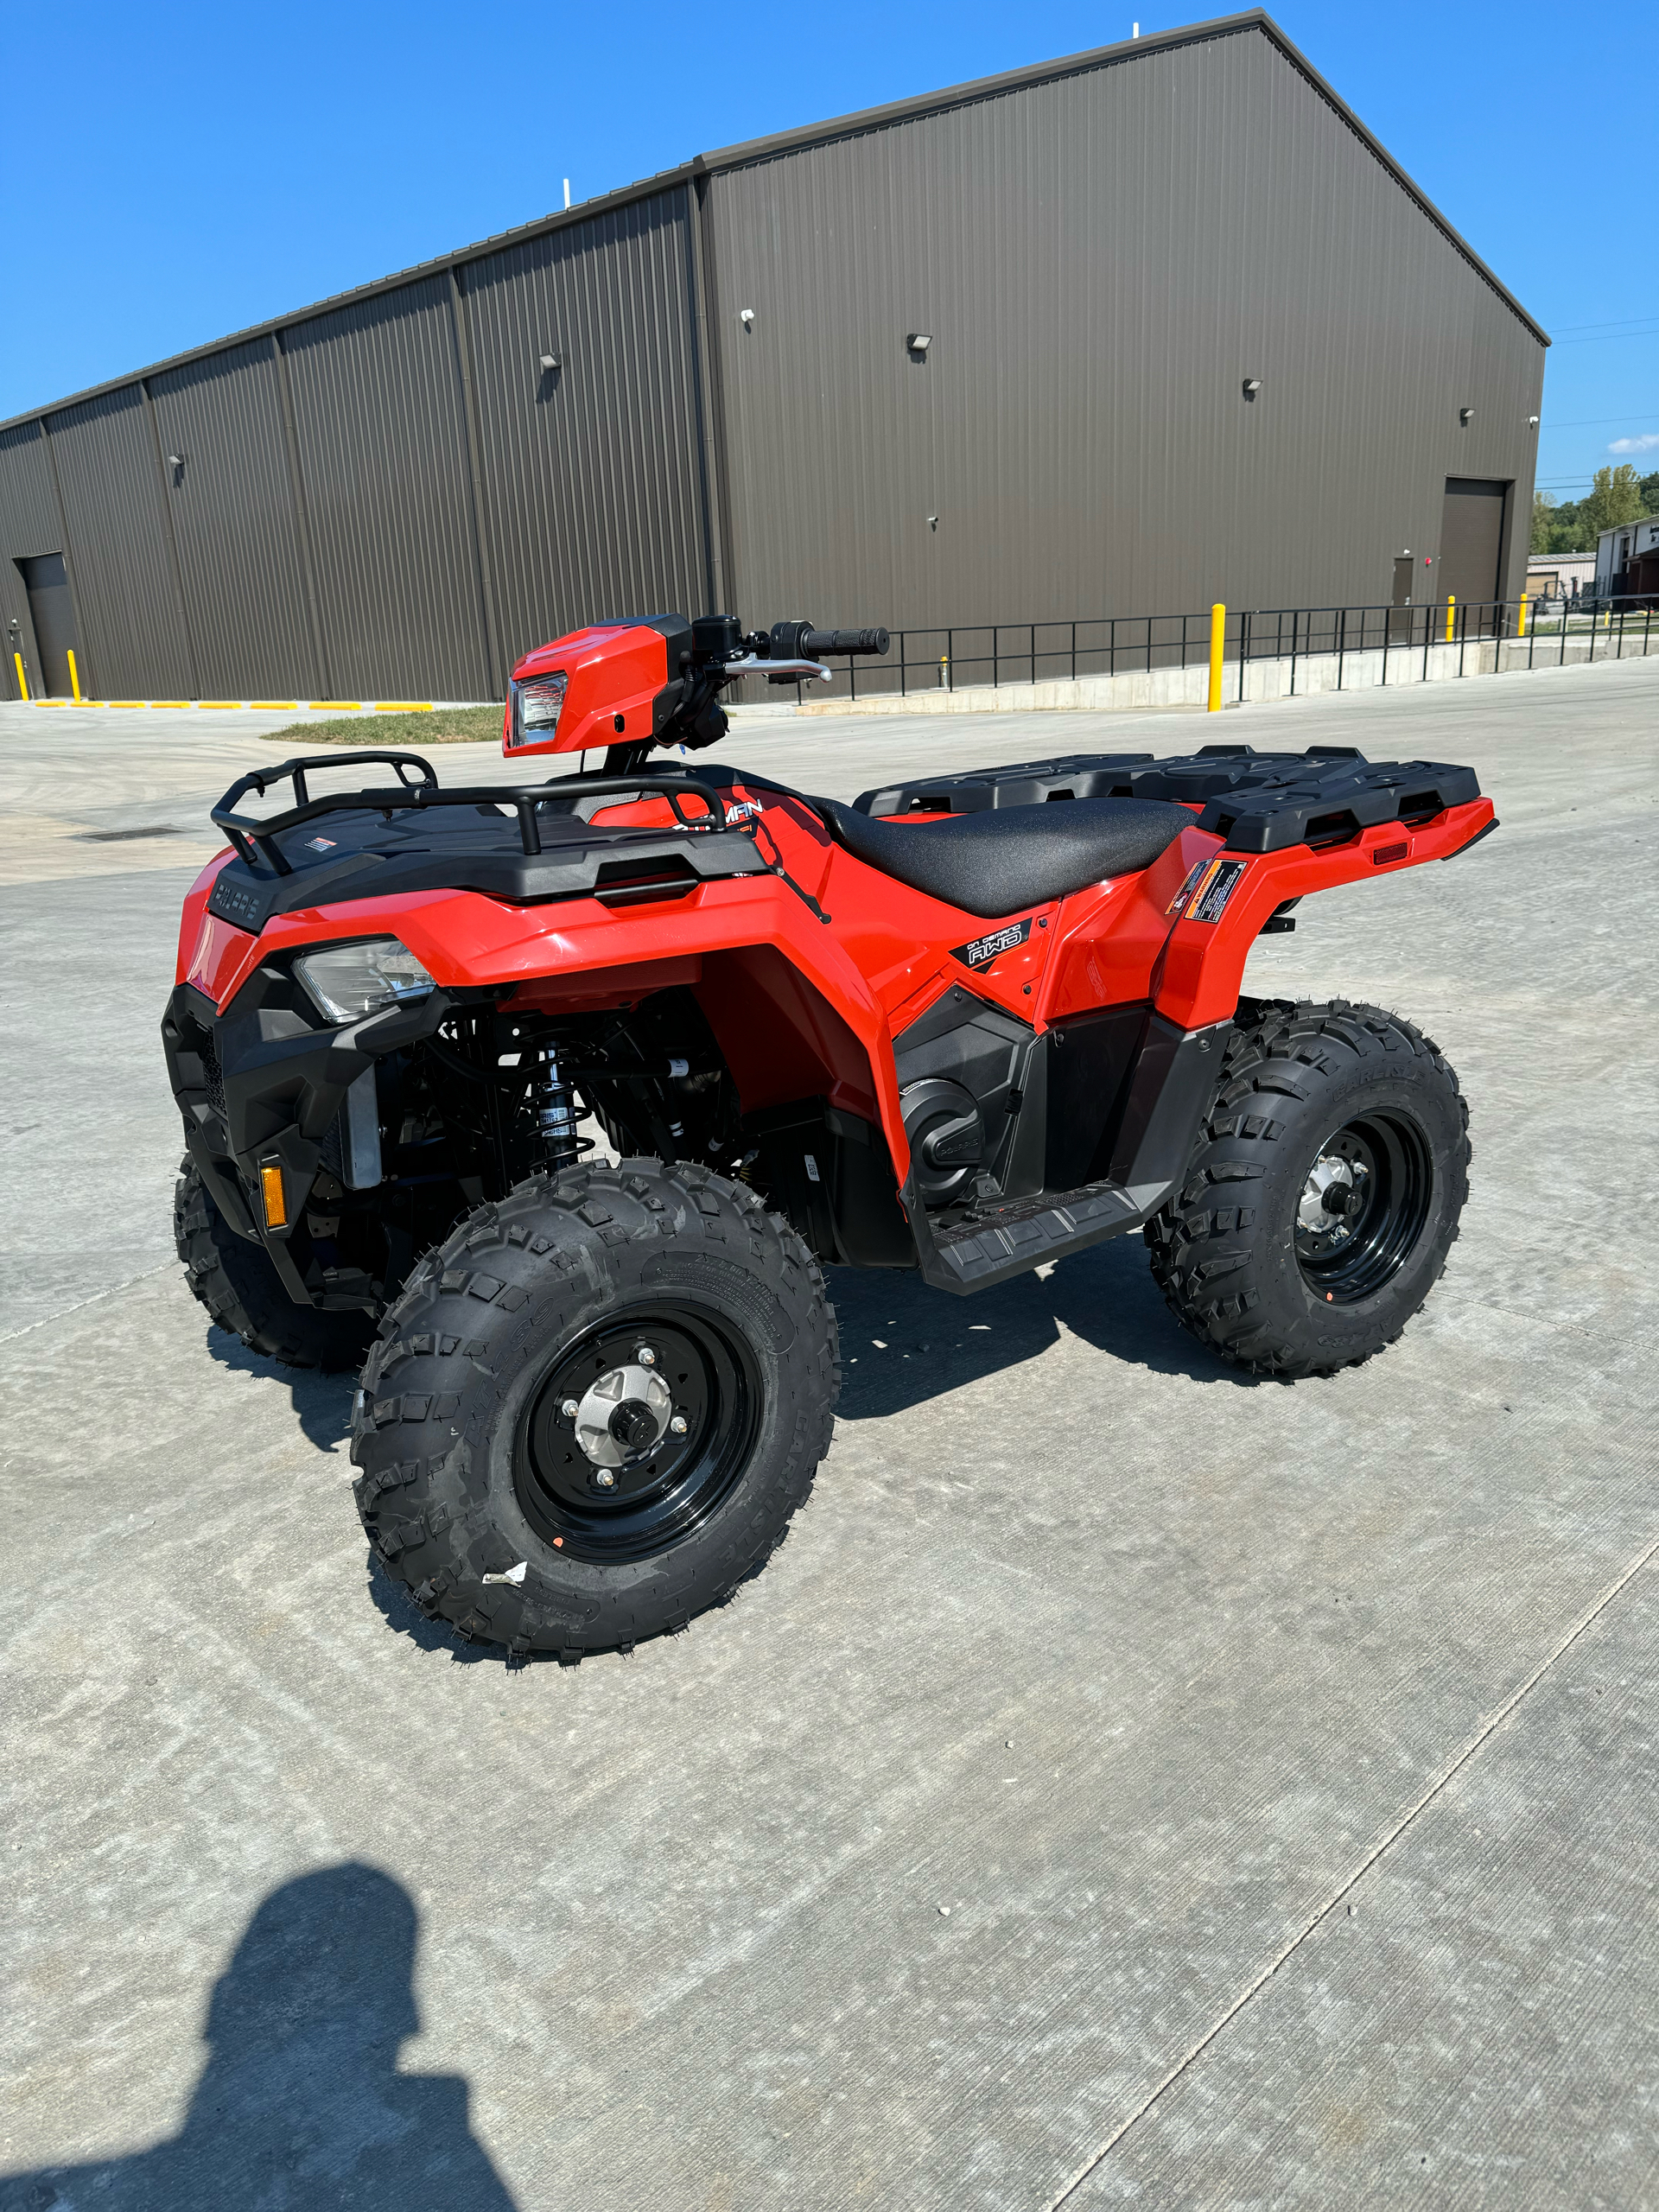
[[[1433,1155],[1411,1115],[1345,1121],[1318,1146],[1296,1210],[1296,1263],[1314,1296],[1323,1305],[1376,1296],[1416,1250],[1431,1199]]]

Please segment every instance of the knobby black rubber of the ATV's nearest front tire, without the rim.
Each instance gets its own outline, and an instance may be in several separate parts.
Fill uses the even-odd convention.
[[[535,1343],[571,1334],[617,1296],[648,1296],[655,1263],[686,1261],[703,1281],[726,1270],[723,1294],[790,1332],[772,1374],[779,1416],[714,1515],[719,1544],[595,1568],[524,1542],[500,1506],[498,1411],[535,1356],[526,1327]],[[657,1159],[533,1175],[476,1208],[387,1310],[352,1416],[358,1513],[383,1568],[462,1637],[566,1661],[633,1650],[730,1599],[783,1542],[830,1449],[838,1389],[823,1272],[748,1186]],[[520,1557],[520,1586],[482,1582]]]

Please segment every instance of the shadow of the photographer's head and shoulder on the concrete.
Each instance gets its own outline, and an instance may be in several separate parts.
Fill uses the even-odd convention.
[[[418,1916],[374,1867],[283,1882],[215,1982],[208,2064],[150,2150],[0,2181],[2,2212],[515,2212],[460,2075],[398,2073],[420,2033]]]

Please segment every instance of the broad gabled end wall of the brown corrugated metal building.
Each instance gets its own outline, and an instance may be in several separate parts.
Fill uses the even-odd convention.
[[[792,150],[710,210],[743,613],[1385,602],[1447,473],[1531,491],[1537,338],[1256,29]]]

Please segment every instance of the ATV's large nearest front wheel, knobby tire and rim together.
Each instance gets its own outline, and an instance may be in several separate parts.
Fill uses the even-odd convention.
[[[836,1323],[743,1183],[531,1177],[411,1274],[363,1369],[363,1526],[429,1617],[630,1650],[765,1562],[830,1449]]]

